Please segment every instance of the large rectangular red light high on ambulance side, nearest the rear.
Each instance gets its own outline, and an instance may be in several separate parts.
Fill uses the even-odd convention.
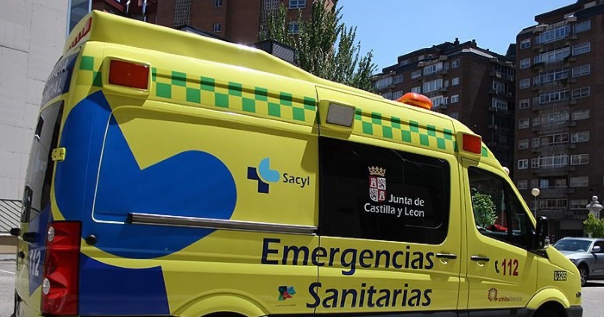
[[[149,87],[149,66],[137,63],[111,60],[109,63],[109,83],[147,90]]]

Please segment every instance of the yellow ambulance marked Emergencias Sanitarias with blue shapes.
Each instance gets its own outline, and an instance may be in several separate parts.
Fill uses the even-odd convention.
[[[429,107],[93,11],[44,88],[15,316],[581,316],[544,219]]]

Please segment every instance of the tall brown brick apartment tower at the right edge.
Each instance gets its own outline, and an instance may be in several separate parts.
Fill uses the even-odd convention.
[[[603,16],[604,1],[579,0],[516,36],[514,179],[556,240],[582,236],[585,205],[604,198]]]

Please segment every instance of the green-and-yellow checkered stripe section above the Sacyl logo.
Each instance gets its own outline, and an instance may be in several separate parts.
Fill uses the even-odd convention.
[[[313,97],[159,68],[152,68],[152,82],[152,94],[159,98],[205,104],[308,125],[315,123],[316,99]]]

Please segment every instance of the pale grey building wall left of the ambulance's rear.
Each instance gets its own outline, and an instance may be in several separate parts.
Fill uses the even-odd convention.
[[[0,10],[0,199],[21,199],[42,89],[66,37],[68,0]]]

